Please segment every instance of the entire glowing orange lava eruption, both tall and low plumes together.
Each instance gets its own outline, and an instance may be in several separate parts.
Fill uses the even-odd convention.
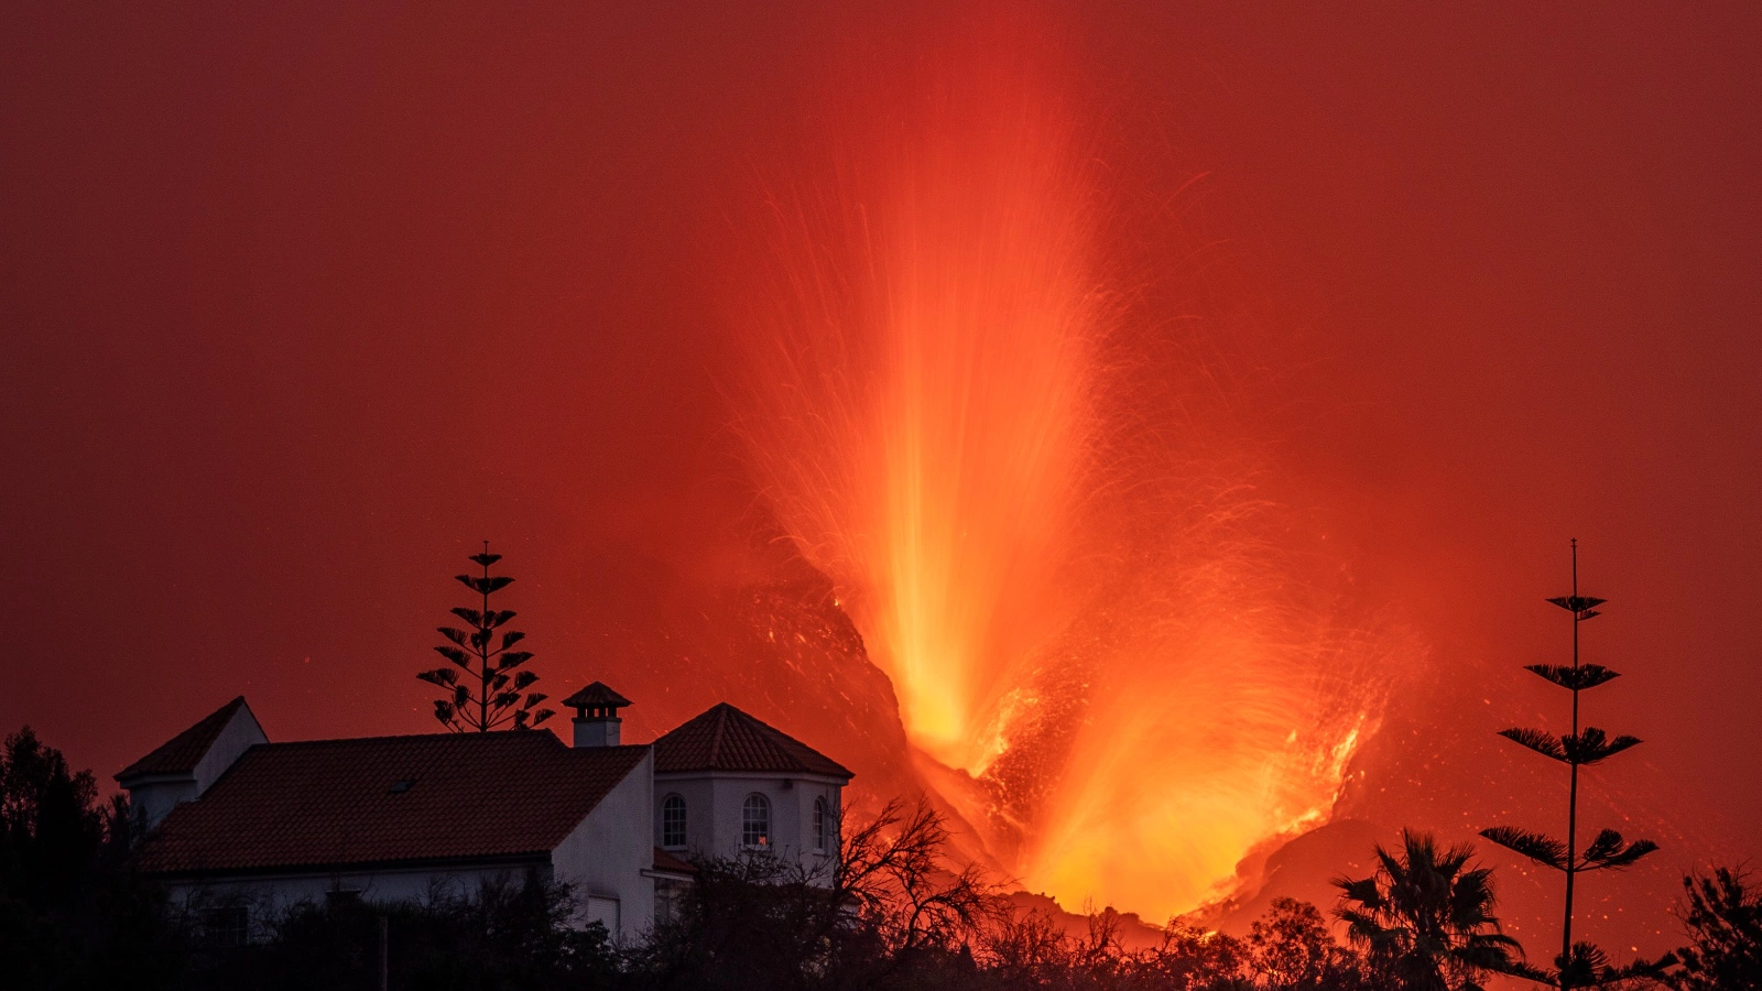
[[[872,123],[772,199],[737,430],[996,861],[1186,912],[1327,818],[1383,651],[1258,496],[1228,342],[1122,275],[1080,115],[1008,58],[946,67],[851,101]]]

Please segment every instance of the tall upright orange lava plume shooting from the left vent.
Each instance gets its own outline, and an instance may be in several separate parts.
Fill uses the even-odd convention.
[[[802,245],[747,427],[807,557],[848,589],[913,741],[973,772],[1048,633],[1091,455],[1099,302],[1050,123],[969,120]],[[869,199],[874,196],[874,199]],[[796,235],[825,247],[825,229]]]

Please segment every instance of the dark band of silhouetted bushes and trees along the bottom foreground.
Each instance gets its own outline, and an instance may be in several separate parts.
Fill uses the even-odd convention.
[[[946,868],[944,841],[929,809],[890,806],[848,831],[821,876],[768,857],[700,864],[638,947],[573,926],[571,892],[537,878],[414,905],[303,905],[247,938],[136,876],[127,806],[99,801],[92,774],[26,728],[0,751],[0,986],[1457,991],[1521,961],[1489,873],[1425,836],[1378,852],[1376,875],[1343,878],[1327,915],[1281,899],[1247,936],[1175,924],[1145,949],[1121,942],[1112,913],[1071,933],[1011,910],[978,871]],[[1727,869],[1684,885],[1688,943],[1662,984],[1762,987],[1755,885]]]

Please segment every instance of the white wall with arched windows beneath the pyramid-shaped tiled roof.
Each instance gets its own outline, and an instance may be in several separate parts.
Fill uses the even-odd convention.
[[[668,795],[685,799],[685,852],[700,857],[738,857],[742,853],[742,809],[747,795],[759,794],[772,806],[772,853],[800,861],[816,869],[837,850],[828,838],[828,852],[812,850],[814,799],[825,799],[837,822],[842,783],[835,778],[781,778],[777,774],[657,774],[654,785],[654,843],[661,843],[661,802]]]

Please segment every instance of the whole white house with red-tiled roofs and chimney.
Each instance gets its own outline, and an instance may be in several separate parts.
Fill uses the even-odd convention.
[[[807,744],[722,704],[622,746],[629,700],[594,682],[564,704],[574,746],[530,730],[270,742],[240,697],[116,781],[148,829],[141,869],[234,940],[300,901],[536,873],[631,942],[691,883],[689,857],[814,868],[837,850],[851,772]]]

